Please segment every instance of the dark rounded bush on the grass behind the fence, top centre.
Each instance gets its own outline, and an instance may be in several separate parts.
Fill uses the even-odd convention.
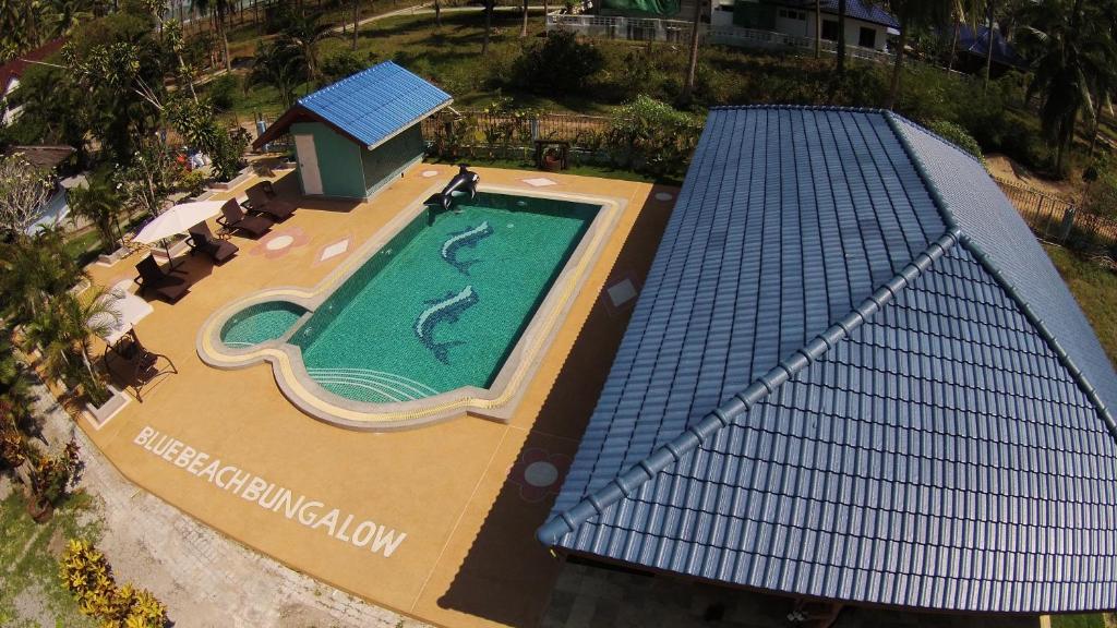
[[[541,94],[582,93],[604,65],[604,56],[592,42],[557,30],[524,48],[513,66],[513,80]]]

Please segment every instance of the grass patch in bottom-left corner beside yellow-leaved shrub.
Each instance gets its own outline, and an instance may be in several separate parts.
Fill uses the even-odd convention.
[[[99,524],[96,516],[89,516],[93,510],[93,499],[78,492],[55,511],[49,522],[40,525],[27,514],[20,494],[0,502],[0,539],[3,539],[0,542],[0,626],[40,626],[21,617],[28,609],[35,609],[37,616],[54,618],[54,626],[96,626],[95,621],[78,613],[77,603],[63,588],[56,555],[70,537],[97,539]]]

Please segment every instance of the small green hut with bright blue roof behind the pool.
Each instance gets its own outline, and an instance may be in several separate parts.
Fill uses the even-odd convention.
[[[422,160],[421,122],[451,102],[385,61],[299,98],[252,145],[289,133],[305,196],[365,200]]]

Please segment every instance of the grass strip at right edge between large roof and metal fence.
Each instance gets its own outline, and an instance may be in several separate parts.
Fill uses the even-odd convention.
[[[1117,274],[1062,247],[1044,248],[1094,325],[1109,360],[1117,364],[1117,308],[1114,307],[1117,303]]]

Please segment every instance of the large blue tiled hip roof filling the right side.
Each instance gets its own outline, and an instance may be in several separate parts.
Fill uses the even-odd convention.
[[[710,112],[540,540],[756,590],[1117,608],[1117,375],[980,162]]]

